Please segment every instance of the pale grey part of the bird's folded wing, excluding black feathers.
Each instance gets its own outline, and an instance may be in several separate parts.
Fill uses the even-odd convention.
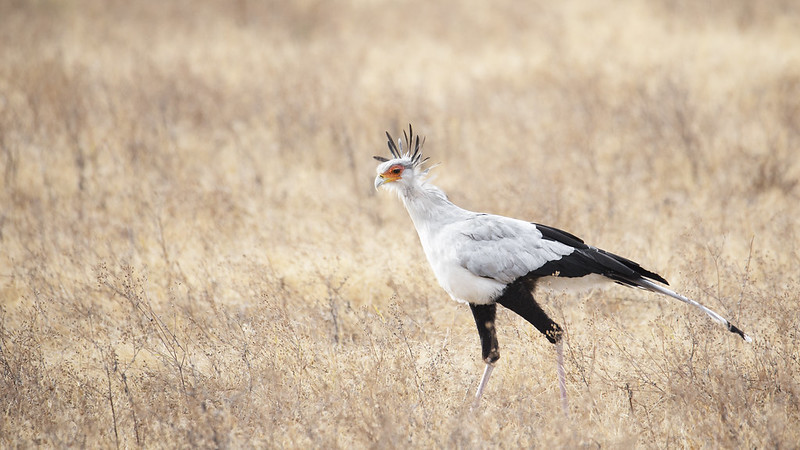
[[[459,223],[455,251],[459,264],[473,274],[512,283],[575,248],[544,239],[535,224],[491,214],[477,214]]]

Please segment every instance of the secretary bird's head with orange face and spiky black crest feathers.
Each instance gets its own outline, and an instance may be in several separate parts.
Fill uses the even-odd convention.
[[[376,169],[378,175],[375,177],[375,189],[385,186],[392,190],[395,189],[408,189],[416,182],[420,182],[428,174],[428,169],[422,169],[422,165],[428,161],[428,158],[422,158],[422,146],[425,144],[425,138],[420,142],[419,136],[414,136],[411,125],[408,125],[408,134],[403,130],[403,137],[405,138],[405,146],[407,150],[403,152],[403,141],[398,139],[395,144],[394,139],[386,132],[386,137],[389,139],[389,151],[392,154],[391,159],[384,158],[383,156],[373,156],[381,163],[378,164]],[[412,151],[413,143],[413,151]]]

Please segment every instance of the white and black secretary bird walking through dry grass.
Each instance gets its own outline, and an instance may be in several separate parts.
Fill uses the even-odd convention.
[[[386,132],[392,158],[374,157],[380,161],[375,189],[383,187],[397,193],[414,222],[439,284],[454,300],[468,303],[472,310],[486,363],[475,404],[500,358],[495,328],[499,303],[522,316],[555,344],[558,384],[562,407],[567,413],[563,332],[533,298],[534,288],[540,283],[568,287],[580,283],[578,280],[590,284],[615,282],[658,292],[699,308],[728,331],[752,341],[724,317],[665,288],[661,284],[669,284],[667,280],[629,259],[587,245],[553,227],[456,206],[427,179],[430,168],[423,165],[429,158],[423,159],[421,153],[424,139],[420,142],[419,136],[414,136],[411,125],[408,134],[403,131],[403,135],[405,152],[403,141],[395,144]]]

